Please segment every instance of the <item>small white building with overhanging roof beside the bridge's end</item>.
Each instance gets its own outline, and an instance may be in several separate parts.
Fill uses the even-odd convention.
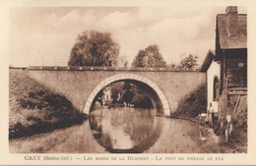
[[[218,116],[220,62],[215,61],[215,51],[208,51],[200,71],[205,72],[207,76],[207,105],[212,103],[215,116]]]

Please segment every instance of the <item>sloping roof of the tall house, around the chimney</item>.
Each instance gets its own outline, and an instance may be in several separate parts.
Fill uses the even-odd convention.
[[[217,15],[217,42],[220,43],[221,49],[239,49],[247,48],[247,15],[237,14],[237,29],[236,36],[229,36],[226,25],[225,14]]]

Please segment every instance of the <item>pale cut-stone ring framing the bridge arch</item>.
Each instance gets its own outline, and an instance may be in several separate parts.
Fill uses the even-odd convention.
[[[160,87],[147,78],[132,74],[114,75],[103,80],[101,83],[98,83],[86,102],[84,113],[90,114],[90,112],[94,109],[96,96],[98,96],[98,93],[102,91],[102,89],[106,88],[111,83],[118,82],[137,84],[140,88],[142,88],[142,90],[147,92],[153,108],[156,109],[156,114],[170,116],[168,102]]]

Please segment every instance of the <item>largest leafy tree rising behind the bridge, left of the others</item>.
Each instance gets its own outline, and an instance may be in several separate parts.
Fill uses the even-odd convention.
[[[84,31],[71,50],[68,66],[116,66],[118,54],[119,45],[110,33]]]

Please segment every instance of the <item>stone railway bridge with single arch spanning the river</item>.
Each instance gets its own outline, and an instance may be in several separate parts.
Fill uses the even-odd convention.
[[[206,74],[168,68],[29,67],[29,77],[64,95],[89,114],[96,94],[109,83],[141,84],[161,115],[170,116],[178,104],[206,83]]]

